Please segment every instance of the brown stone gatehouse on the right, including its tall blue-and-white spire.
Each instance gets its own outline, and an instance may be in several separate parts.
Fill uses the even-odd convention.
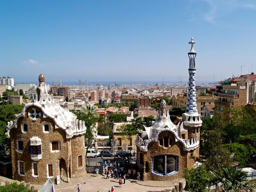
[[[168,181],[183,177],[186,168],[194,168],[199,157],[201,114],[198,114],[195,91],[195,42],[189,54],[189,93],[186,113],[177,125],[170,120],[166,101],[160,102],[160,111],[151,127],[137,134],[137,165],[143,180]]]

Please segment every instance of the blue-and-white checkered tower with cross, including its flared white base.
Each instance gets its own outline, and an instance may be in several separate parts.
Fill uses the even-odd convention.
[[[189,91],[188,91],[188,101],[186,107],[186,113],[183,113],[183,120],[185,126],[189,127],[200,127],[202,125],[201,115],[198,114],[196,106],[196,93],[195,93],[195,57],[196,52],[193,48],[193,38],[189,42],[191,44],[191,49],[188,52],[189,55]]]

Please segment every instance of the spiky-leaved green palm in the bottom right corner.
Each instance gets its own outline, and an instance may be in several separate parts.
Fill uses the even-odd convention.
[[[215,186],[216,191],[225,192],[253,192],[256,179],[247,180],[247,171],[241,167],[218,167],[210,170],[209,186]]]

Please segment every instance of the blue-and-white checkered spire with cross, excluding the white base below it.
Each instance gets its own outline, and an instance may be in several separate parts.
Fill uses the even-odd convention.
[[[191,44],[191,49],[188,52],[189,55],[189,92],[188,92],[188,101],[187,101],[187,107],[186,107],[186,113],[198,113],[197,107],[196,107],[196,95],[195,95],[195,57],[196,52],[193,48],[193,44],[195,44],[195,41],[193,41],[193,38],[191,38],[191,41],[189,42]]]

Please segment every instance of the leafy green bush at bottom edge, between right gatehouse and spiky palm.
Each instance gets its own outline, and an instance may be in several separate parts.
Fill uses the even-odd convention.
[[[186,190],[192,192],[206,192],[209,174],[204,166],[195,169],[185,169],[184,178],[186,179]]]

